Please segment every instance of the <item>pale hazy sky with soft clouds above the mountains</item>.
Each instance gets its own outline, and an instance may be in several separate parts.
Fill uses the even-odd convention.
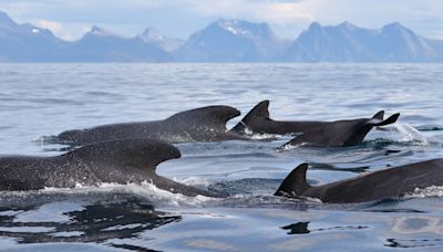
[[[378,29],[400,22],[416,33],[443,39],[443,0],[0,0],[0,10],[74,40],[96,24],[125,36],[153,27],[187,39],[220,19],[267,22],[295,39],[310,22],[349,21]]]

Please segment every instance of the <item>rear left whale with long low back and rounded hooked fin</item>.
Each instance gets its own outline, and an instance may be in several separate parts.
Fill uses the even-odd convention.
[[[75,146],[140,137],[168,143],[246,140],[247,137],[226,129],[226,123],[239,115],[240,112],[230,106],[207,106],[177,113],[163,120],[71,129],[62,132],[52,141]]]

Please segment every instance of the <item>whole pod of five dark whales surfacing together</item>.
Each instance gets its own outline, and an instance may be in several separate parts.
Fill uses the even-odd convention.
[[[0,190],[38,190],[45,187],[73,188],[76,183],[141,183],[185,196],[226,197],[188,187],[156,175],[158,164],[179,158],[168,143],[250,139],[245,134],[297,134],[282,147],[312,144],[352,146],[360,144],[378,126],[393,124],[400,114],[384,119],[380,111],[372,118],[336,122],[291,122],[269,118],[269,101],[257,104],[231,130],[226,123],[240,113],[229,106],[207,106],[185,111],[163,120],[103,125],[63,132],[58,139],[84,145],[55,157],[0,156]],[[403,197],[431,186],[443,186],[443,159],[427,160],[374,171],[323,186],[308,185],[307,164],[295,168],[275,196],[311,197],[322,202],[356,203]]]

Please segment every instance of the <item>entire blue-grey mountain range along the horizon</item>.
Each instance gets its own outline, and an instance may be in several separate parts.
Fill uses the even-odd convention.
[[[0,11],[0,62],[443,62],[443,41],[420,36],[400,23],[375,30],[349,22],[313,22],[290,41],[278,38],[267,23],[224,19],[186,41],[153,28],[124,38],[99,27],[76,41],[64,41]]]

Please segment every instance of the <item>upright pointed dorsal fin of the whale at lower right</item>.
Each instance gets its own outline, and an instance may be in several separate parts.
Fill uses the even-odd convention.
[[[311,186],[306,180],[308,164],[301,164],[296,167],[281,182],[275,196],[301,196]]]

